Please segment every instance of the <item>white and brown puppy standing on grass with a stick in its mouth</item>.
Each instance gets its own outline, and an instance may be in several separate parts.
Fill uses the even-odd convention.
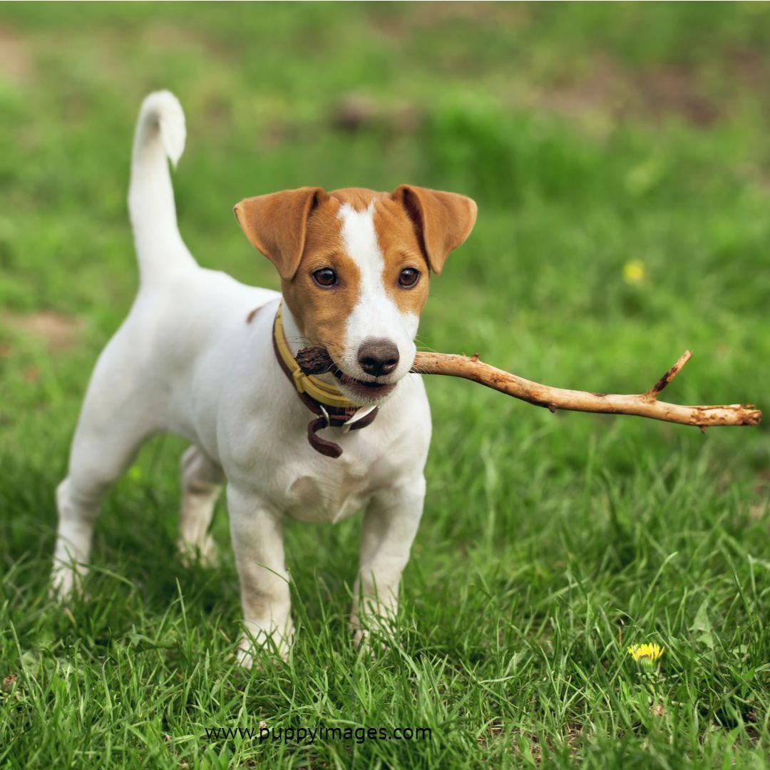
[[[410,373],[414,337],[430,272],[464,243],[477,206],[407,185],[246,198],[237,222],[281,292],[245,286],[199,267],[179,234],[169,160],[176,167],[185,139],[176,97],[147,96],[129,186],[139,291],[96,363],[56,490],[52,593],[81,590],[105,491],[148,437],[170,431],[191,444],[181,460],[187,557],[214,557],[207,530],[226,480],[239,661],[290,649],[287,516],[336,522],[363,509],[350,619],[358,644],[367,628],[391,628],[397,611],[431,430],[422,380]],[[306,345],[326,348],[333,371],[305,375],[294,357]]]

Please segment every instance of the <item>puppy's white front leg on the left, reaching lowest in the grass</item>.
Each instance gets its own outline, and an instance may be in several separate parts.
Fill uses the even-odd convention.
[[[293,624],[281,516],[257,495],[233,484],[227,487],[227,504],[245,626],[238,659],[250,668],[253,648],[267,647],[285,660]]]

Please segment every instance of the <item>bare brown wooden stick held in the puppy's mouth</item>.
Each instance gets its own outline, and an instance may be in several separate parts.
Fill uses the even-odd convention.
[[[602,412],[611,414],[634,414],[651,417],[669,423],[697,425],[701,431],[719,425],[758,425],[762,412],[753,404],[730,403],[708,407],[684,407],[678,403],[658,401],[661,391],[690,360],[692,353],[686,350],[671,369],[646,393],[621,395],[615,393],[588,393],[585,390],[567,390],[560,387],[541,385],[505,372],[479,360],[478,355],[457,356],[449,353],[418,352],[414,357],[412,371],[419,374],[444,374],[463,377],[466,380],[500,390],[509,396],[546,407],[552,412],[557,409],[575,412]],[[334,365],[326,350],[317,346],[303,348],[297,354],[297,363],[306,374],[320,374],[333,370]]]

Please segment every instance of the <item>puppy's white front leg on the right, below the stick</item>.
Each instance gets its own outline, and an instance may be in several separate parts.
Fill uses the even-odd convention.
[[[358,645],[368,631],[387,635],[398,609],[398,586],[409,561],[425,498],[423,476],[378,492],[363,517],[360,571],[350,625]]]

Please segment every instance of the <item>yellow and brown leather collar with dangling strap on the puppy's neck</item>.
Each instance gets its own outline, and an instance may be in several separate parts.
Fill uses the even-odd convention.
[[[313,414],[317,415],[316,419],[310,420],[307,425],[307,440],[316,452],[326,457],[340,457],[342,454],[340,444],[321,438],[318,431],[326,427],[343,427],[360,407],[346,399],[334,385],[325,383],[313,375],[305,374],[300,369],[283,336],[282,309],[283,303],[278,306],[276,320],[273,322],[273,350],[281,370],[286,375],[286,379],[292,383],[297,396]],[[360,420],[351,423],[350,430],[360,430],[373,423],[378,411],[379,407],[375,407]]]

